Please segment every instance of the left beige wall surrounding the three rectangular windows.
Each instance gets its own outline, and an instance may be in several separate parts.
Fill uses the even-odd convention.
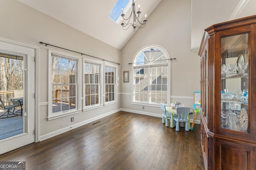
[[[76,55],[78,57],[85,56],[60,50],[55,47],[46,47],[45,45],[41,45],[39,43],[40,41],[104,58],[116,63],[121,62],[121,51],[16,0],[0,0],[0,21],[0,37],[40,47],[38,61],[39,113],[36,113],[39,115],[40,139],[46,139],[52,135],[69,130],[70,127],[76,127],[86,122],[88,123],[88,121],[92,121],[94,117],[102,117],[103,115],[116,112],[121,107],[120,98],[118,96],[117,104],[85,112],[81,111],[72,116],[48,121],[48,49]],[[88,57],[88,59],[92,58]],[[80,63],[80,68],[82,68],[82,63]],[[82,71],[82,69],[80,70]],[[120,70],[120,65],[118,66],[118,70]],[[119,74],[118,77],[120,77]],[[80,77],[80,82],[82,82],[82,76]],[[119,83],[117,89],[118,93],[120,89]],[[80,93],[80,97],[82,97],[82,92]],[[80,100],[80,108],[82,109],[82,100]],[[74,122],[70,122],[70,117],[74,117]]]

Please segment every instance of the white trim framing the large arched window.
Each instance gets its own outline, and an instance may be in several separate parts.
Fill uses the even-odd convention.
[[[142,51],[144,51],[146,49],[149,49],[149,48],[160,49],[161,51],[163,51],[165,53],[166,58],[170,59],[170,55],[169,55],[169,53],[167,52],[167,50],[164,47],[162,47],[160,45],[151,44],[151,45],[145,45],[144,47],[139,49],[137,51],[137,53],[135,53],[135,55],[133,57],[133,60],[132,60],[133,63],[136,62],[135,59],[137,59],[138,55],[140,55],[140,53],[142,53]],[[168,65],[168,77],[167,77],[167,82],[168,82],[167,89],[168,90],[167,90],[167,104],[166,105],[170,105],[170,100],[171,100],[171,98],[170,98],[170,96],[171,96],[171,60],[167,60],[166,64]],[[148,65],[149,64],[144,64],[143,66],[148,66]],[[150,64],[150,66],[155,66],[155,65],[160,65],[160,64]],[[148,100],[149,100],[148,102],[134,101],[134,80],[135,80],[134,79],[134,75],[135,75],[134,68],[136,68],[136,67],[142,67],[142,65],[136,66],[135,64],[132,64],[132,72],[133,72],[132,80],[133,80],[133,82],[131,83],[131,86],[132,86],[132,88],[131,88],[132,89],[132,95],[131,95],[131,97],[132,97],[131,101],[132,102],[131,103],[132,104],[136,104],[136,105],[143,105],[143,106],[158,106],[159,104],[151,103],[150,98],[148,98]],[[148,82],[148,84],[150,84],[150,82]],[[149,95],[149,93],[148,93],[148,95]]]

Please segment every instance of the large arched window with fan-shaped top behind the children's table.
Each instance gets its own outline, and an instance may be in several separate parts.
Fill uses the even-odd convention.
[[[170,57],[162,47],[143,48],[133,64],[133,102],[170,104]]]

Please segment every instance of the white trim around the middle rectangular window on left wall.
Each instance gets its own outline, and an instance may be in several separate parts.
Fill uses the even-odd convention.
[[[84,84],[84,62],[87,61],[87,62],[90,62],[90,63],[95,63],[95,64],[100,64],[100,92],[99,92],[99,104],[94,104],[94,105],[89,105],[89,106],[85,106],[85,84]],[[104,75],[102,75],[103,73],[105,73],[104,71],[104,63],[103,62],[99,62],[99,61],[95,61],[95,60],[90,60],[90,59],[86,59],[86,58],[83,58],[83,71],[82,71],[82,75],[83,75],[83,111],[86,111],[86,110],[90,110],[90,109],[95,109],[95,108],[98,108],[98,107],[102,107],[103,106],[103,100],[104,100],[104,97],[102,97],[102,94],[104,94]]]

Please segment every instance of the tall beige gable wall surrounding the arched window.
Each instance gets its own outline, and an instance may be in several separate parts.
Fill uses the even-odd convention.
[[[191,51],[191,1],[162,0],[147,20],[146,26],[138,29],[122,49],[121,71],[132,72],[128,63],[133,63],[142,47],[150,44],[164,47],[171,58],[176,58],[171,61],[171,102],[181,102],[192,108],[193,92],[200,91],[200,57]],[[131,76],[130,83],[122,82],[122,108],[160,117],[160,107],[142,109],[142,105],[131,104]],[[199,114],[197,119],[200,119]]]

